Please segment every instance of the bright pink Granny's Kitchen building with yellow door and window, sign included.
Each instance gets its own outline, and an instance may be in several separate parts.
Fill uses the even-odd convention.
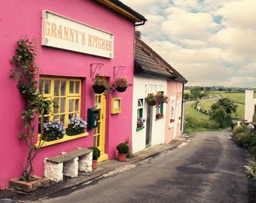
[[[19,139],[24,131],[20,119],[23,98],[17,83],[9,78],[20,38],[38,43],[41,89],[47,98],[59,102],[59,111],[51,119],[59,118],[68,126],[70,114],[88,121],[89,108],[99,112],[98,126],[47,142],[35,158],[33,174],[44,175],[46,157],[78,147],[96,145],[102,151],[100,161],[115,159],[117,144],[132,138],[133,87],[125,92],[114,90],[105,97],[93,92],[92,78],[101,74],[113,83],[114,78],[126,76],[133,83],[135,26],[144,24],[145,17],[117,0],[4,0],[0,11],[0,189],[8,187],[11,178],[20,177],[20,164],[26,162],[26,147]]]

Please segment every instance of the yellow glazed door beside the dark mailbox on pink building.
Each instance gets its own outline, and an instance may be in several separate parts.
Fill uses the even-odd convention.
[[[98,127],[94,129],[93,142],[94,146],[98,147],[101,155],[98,162],[108,159],[108,154],[105,153],[105,95],[95,94],[95,108],[99,110]]]

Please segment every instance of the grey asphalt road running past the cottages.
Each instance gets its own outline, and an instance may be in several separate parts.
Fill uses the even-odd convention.
[[[123,173],[34,202],[248,202],[248,159],[229,131],[198,132]]]

